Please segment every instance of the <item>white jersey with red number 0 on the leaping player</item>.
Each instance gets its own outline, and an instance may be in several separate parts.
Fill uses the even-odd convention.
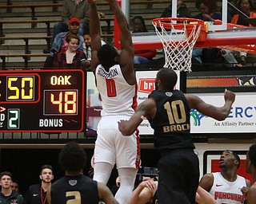
[[[102,116],[132,116],[137,107],[137,84],[126,82],[120,65],[112,66],[109,72],[98,65],[95,77],[102,96]]]

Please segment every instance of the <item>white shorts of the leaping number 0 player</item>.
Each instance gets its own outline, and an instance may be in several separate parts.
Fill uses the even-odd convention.
[[[94,163],[110,163],[117,168],[138,169],[140,161],[139,137],[137,134],[124,136],[118,130],[119,120],[124,116],[103,116],[98,124],[98,137],[94,148]]]

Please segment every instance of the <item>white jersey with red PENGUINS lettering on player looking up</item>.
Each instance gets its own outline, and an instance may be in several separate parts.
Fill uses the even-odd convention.
[[[229,182],[222,177],[220,172],[213,173],[214,184],[210,194],[214,196],[217,204],[241,204],[245,201],[241,189],[246,186],[246,179],[237,175],[234,182]]]

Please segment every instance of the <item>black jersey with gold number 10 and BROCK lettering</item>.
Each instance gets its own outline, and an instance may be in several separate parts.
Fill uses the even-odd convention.
[[[192,148],[190,137],[190,106],[184,94],[178,90],[162,92],[153,91],[157,104],[154,120],[149,120],[156,136],[155,147],[161,150]]]

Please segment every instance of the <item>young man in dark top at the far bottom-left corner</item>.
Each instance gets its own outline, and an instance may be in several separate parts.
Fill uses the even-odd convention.
[[[21,194],[18,194],[14,190],[11,189],[12,183],[12,175],[8,171],[3,171],[0,174],[0,186],[1,186],[1,193],[0,193],[0,203],[15,203],[15,204],[22,204],[23,198]]]

